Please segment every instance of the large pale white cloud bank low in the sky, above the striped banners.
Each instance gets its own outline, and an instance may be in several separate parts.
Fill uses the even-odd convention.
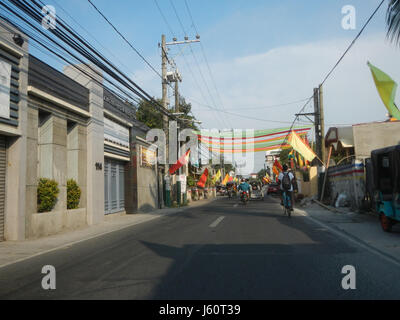
[[[197,75],[203,95],[185,65],[180,67],[184,79],[181,93],[192,102],[193,112],[207,128],[222,128],[227,123],[234,128],[243,129],[289,126],[294,114],[302,107],[301,103],[279,108],[253,108],[310,97],[313,88],[321,83],[351,40],[330,39],[277,47],[260,54],[236,57],[218,63],[209,60],[222,104],[227,111],[258,119],[287,121],[289,124],[262,122],[222,113],[218,113],[217,117],[215,112],[195,102],[212,104],[208,97],[204,97],[208,95],[208,91],[195,66],[192,66],[192,70]],[[395,81],[400,81],[399,48],[388,43],[383,33],[362,36],[324,85],[326,131],[335,124],[385,119],[387,111],[376,91],[367,61],[388,73]],[[222,108],[211,79],[207,76],[207,67],[201,65],[200,68],[214,95],[215,103]],[[400,101],[399,98],[396,100]],[[310,104],[306,111],[312,112],[313,105]],[[256,168],[260,169],[263,156],[260,154],[256,158]]]

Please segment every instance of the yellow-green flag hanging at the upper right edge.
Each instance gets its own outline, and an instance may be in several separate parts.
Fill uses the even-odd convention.
[[[397,83],[392,80],[386,73],[367,62],[367,65],[371,69],[372,77],[376,85],[376,89],[388,109],[390,115],[397,120],[400,120],[400,111],[394,103],[396,96]]]

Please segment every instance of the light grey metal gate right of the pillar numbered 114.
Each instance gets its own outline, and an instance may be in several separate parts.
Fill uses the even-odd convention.
[[[125,163],[104,159],[105,214],[125,210]]]

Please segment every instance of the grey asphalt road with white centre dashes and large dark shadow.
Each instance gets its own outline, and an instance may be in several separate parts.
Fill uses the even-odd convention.
[[[0,299],[399,299],[400,268],[269,198],[222,198],[0,269]],[[43,290],[44,265],[56,289]],[[356,289],[342,288],[342,267]]]

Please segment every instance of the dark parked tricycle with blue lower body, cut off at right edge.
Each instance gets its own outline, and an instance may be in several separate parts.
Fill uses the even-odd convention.
[[[376,211],[382,229],[390,232],[400,221],[400,145],[371,152]]]

